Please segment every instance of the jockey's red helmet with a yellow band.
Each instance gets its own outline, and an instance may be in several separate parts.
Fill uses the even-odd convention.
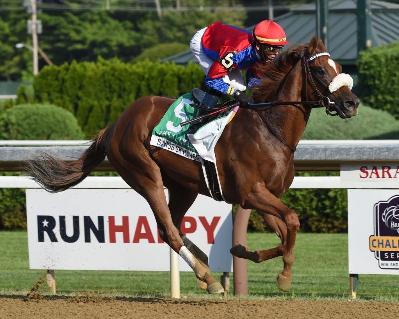
[[[271,20],[264,20],[256,24],[253,29],[253,37],[260,43],[269,45],[280,46],[289,43],[283,28]]]

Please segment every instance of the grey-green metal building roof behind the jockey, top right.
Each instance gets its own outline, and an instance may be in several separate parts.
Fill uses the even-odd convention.
[[[399,5],[384,1],[371,1],[372,45],[378,46],[399,40]],[[290,45],[307,43],[316,34],[316,5],[306,4],[292,9],[289,13],[274,19],[280,24],[290,41]],[[328,51],[331,57],[341,64],[354,64],[357,52],[356,0],[329,1]],[[254,26],[248,30],[253,30]],[[173,61],[176,64],[197,62],[194,55],[184,51],[161,62]]]

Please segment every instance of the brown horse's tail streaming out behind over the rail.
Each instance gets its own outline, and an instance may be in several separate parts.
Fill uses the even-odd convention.
[[[25,162],[22,170],[50,193],[66,190],[79,184],[104,160],[106,141],[113,131],[114,124],[100,131],[77,160],[66,161],[41,152]]]

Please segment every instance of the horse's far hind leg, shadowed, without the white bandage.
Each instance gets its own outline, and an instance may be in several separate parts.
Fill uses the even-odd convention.
[[[177,184],[172,185],[168,184],[169,189],[169,210],[171,212],[173,224],[180,229],[180,225],[182,223],[183,217],[186,214],[187,210],[193,204],[194,200],[197,197],[197,193],[185,189]],[[160,235],[161,235],[160,231]],[[210,275],[208,257],[206,254],[200,250],[195,244],[191,242],[185,235],[179,232],[180,238],[183,241],[184,246],[194,255],[197,261],[206,269],[205,276],[202,278],[198,278],[197,283],[199,284],[201,289],[206,289],[210,294],[223,293],[223,286]],[[162,235],[161,235],[162,237]]]

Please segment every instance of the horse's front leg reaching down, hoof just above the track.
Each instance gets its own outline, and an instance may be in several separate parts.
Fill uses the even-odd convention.
[[[282,256],[284,262],[284,268],[281,273],[278,274],[276,284],[282,291],[288,291],[291,288],[292,280],[292,264],[294,262],[294,246],[296,233],[299,228],[298,215],[292,209],[284,205],[280,199],[274,196],[263,184],[256,184],[252,190],[244,198],[244,202],[241,204],[242,207],[252,208],[259,211],[261,214],[269,214],[274,217],[281,219],[287,227],[286,236],[284,236],[284,227],[281,227],[282,235]],[[269,219],[275,221],[274,218]],[[276,223],[278,226],[279,223]],[[284,237],[285,240],[284,240]],[[267,251],[266,251],[267,252]],[[278,256],[278,250],[269,250],[268,253],[264,253],[266,259]]]

